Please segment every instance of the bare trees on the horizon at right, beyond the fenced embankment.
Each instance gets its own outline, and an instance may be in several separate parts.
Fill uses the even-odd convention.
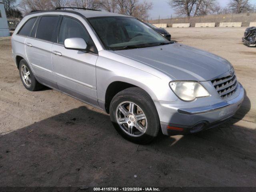
[[[178,16],[239,14],[256,11],[256,6],[251,4],[251,0],[229,0],[226,7],[221,7],[218,0],[169,0],[168,3]]]

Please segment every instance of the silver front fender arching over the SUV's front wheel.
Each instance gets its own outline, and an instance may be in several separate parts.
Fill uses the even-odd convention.
[[[115,59],[111,58],[113,56],[111,54],[108,54],[108,57],[99,54],[96,63],[98,100],[105,102],[108,85],[116,81],[142,88],[153,100],[174,102],[178,99],[169,87],[171,80],[168,76],[117,54],[114,54]],[[146,68],[150,68],[148,69],[150,72]]]

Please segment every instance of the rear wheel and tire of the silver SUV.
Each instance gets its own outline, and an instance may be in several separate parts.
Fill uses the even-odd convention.
[[[32,70],[28,66],[28,63],[24,59],[20,60],[19,72],[20,79],[27,90],[37,91],[44,87],[36,80]]]

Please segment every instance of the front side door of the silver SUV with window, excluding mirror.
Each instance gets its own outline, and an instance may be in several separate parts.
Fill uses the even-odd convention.
[[[67,38],[83,38],[93,51],[70,50],[64,47]],[[84,102],[98,105],[96,92],[96,61],[98,52],[85,26],[63,16],[58,38],[52,46],[52,65],[58,88]]]

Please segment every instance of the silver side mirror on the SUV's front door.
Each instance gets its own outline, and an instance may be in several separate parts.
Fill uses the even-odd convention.
[[[85,51],[88,48],[88,44],[82,38],[68,38],[64,41],[64,47],[66,49]]]

